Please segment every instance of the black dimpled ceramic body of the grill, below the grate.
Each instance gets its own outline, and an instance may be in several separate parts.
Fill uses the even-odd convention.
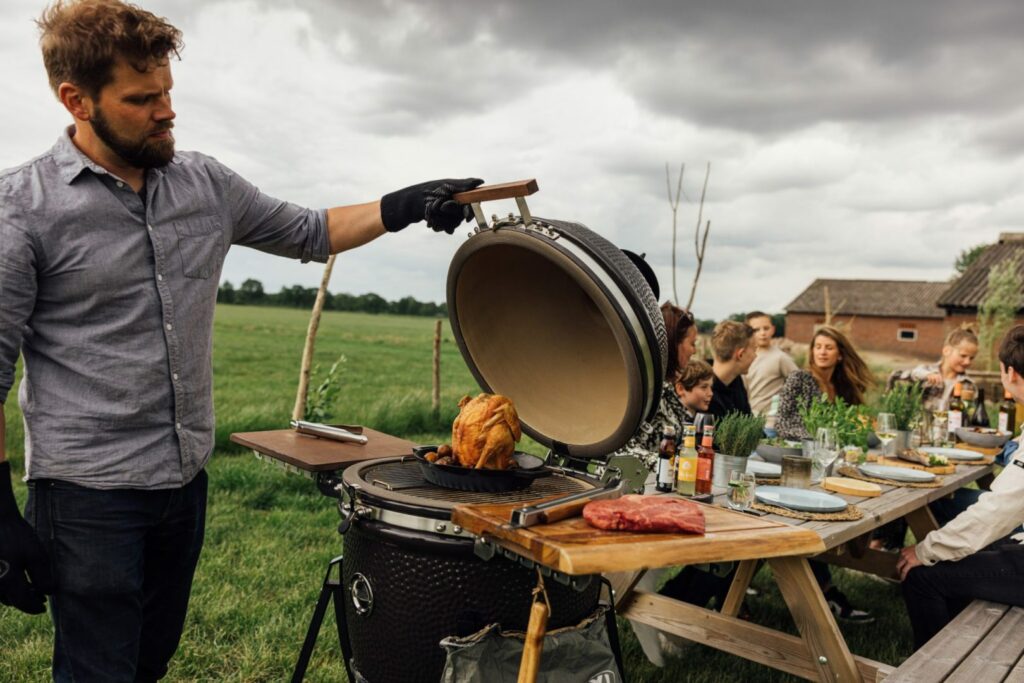
[[[526,630],[537,570],[501,556],[480,559],[468,533],[453,533],[446,506],[375,483],[377,472],[395,462],[402,461],[364,463],[343,474],[348,503],[361,514],[345,532],[345,599],[335,608],[343,609],[338,621],[347,627],[352,668],[369,683],[436,683],[443,638],[496,623]],[[404,464],[419,471],[411,459]],[[596,577],[583,590],[552,579],[546,588],[549,630],[578,624],[597,608]]]

